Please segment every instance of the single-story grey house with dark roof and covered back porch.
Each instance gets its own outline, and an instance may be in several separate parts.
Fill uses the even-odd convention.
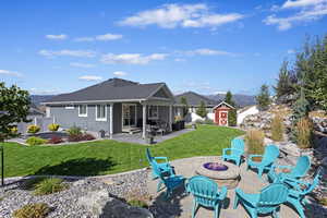
[[[143,132],[146,124],[165,122],[171,130],[174,98],[165,83],[140,84],[110,78],[99,84],[52,97],[44,102],[46,116],[63,129],[73,125],[87,131]]]

